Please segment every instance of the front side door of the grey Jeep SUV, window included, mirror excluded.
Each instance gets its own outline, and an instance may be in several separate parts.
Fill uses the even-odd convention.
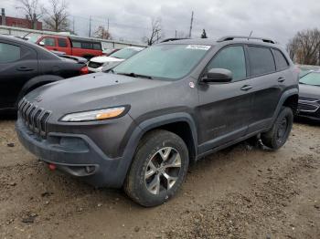
[[[233,77],[228,83],[199,84],[199,153],[240,139],[251,120],[253,94],[243,46],[232,45],[219,50],[205,72],[211,68],[229,69]]]

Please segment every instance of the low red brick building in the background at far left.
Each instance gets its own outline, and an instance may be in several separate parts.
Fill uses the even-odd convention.
[[[1,9],[0,25],[42,30],[42,22],[37,21],[33,23],[31,20],[27,19],[27,17],[18,18],[18,17],[12,17],[12,16],[5,16],[5,8]]]

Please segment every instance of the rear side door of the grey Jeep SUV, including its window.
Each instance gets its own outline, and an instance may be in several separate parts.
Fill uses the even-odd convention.
[[[254,97],[249,133],[269,128],[272,116],[281,98],[279,80],[282,74],[276,72],[272,48],[247,46],[250,77]]]

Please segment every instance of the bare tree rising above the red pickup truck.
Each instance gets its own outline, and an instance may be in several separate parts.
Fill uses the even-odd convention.
[[[44,8],[44,22],[48,30],[66,31],[69,30],[68,4],[65,0],[50,0],[50,8]]]

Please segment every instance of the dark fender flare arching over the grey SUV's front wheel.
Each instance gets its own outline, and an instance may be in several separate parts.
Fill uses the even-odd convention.
[[[119,175],[123,180],[125,180],[126,174],[129,171],[129,168],[133,161],[133,156],[138,147],[139,141],[143,138],[144,134],[147,131],[154,130],[161,126],[170,123],[177,123],[177,122],[187,122],[188,126],[190,127],[192,140],[194,143],[196,155],[197,155],[197,127],[196,122],[193,120],[191,115],[185,112],[177,112],[177,113],[170,113],[162,116],[158,116],[152,119],[144,120],[140,124],[136,125],[136,128],[133,130],[130,139],[128,140],[125,149],[123,151],[123,161],[121,161],[119,168],[122,169],[121,172],[123,175]]]

